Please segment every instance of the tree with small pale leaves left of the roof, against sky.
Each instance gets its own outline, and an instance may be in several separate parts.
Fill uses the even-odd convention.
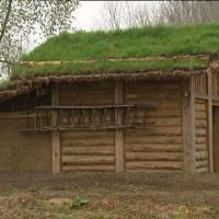
[[[18,60],[22,41],[38,32],[50,36],[72,30],[78,0],[0,0],[0,70]],[[36,31],[37,30],[37,31]],[[2,64],[5,64],[2,66]]]

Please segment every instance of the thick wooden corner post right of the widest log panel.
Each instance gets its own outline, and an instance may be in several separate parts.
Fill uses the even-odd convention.
[[[183,83],[184,172],[195,173],[195,79]]]

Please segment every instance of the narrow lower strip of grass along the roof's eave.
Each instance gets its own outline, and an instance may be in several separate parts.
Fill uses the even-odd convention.
[[[12,78],[15,79],[31,79],[36,76],[50,76],[50,74],[79,74],[79,73],[102,73],[114,71],[136,71],[147,69],[171,70],[174,68],[194,68],[207,67],[208,62],[193,58],[189,60],[138,60],[138,61],[107,61],[96,60],[93,62],[69,62],[59,66],[43,65],[43,66],[15,66],[13,68]]]

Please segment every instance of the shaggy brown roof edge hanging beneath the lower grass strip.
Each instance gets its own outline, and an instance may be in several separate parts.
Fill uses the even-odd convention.
[[[95,74],[66,74],[66,76],[38,76],[33,79],[16,80],[10,87],[0,90],[0,102],[14,97],[22,93],[30,92],[42,85],[49,83],[65,83],[65,82],[101,82],[105,80],[126,80],[126,81],[142,81],[149,79],[181,79],[188,78],[193,74],[207,72],[207,69],[199,70],[174,70],[174,71],[147,71],[147,72],[132,72],[132,73],[95,73]]]

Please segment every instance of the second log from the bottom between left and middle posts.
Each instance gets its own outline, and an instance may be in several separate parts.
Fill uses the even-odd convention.
[[[115,158],[113,155],[62,155],[64,164],[113,164]]]

